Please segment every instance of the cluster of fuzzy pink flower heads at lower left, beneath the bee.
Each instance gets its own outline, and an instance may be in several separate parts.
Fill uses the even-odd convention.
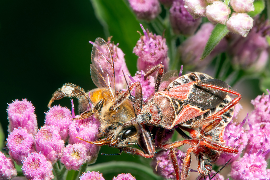
[[[26,99],[15,100],[7,109],[11,124],[7,138],[9,155],[18,165],[22,165],[26,178],[53,179],[52,167],[58,160],[69,170],[78,170],[82,164],[96,161],[99,147],[76,138],[97,140],[98,123],[95,117],[81,122],[72,121],[70,110],[54,106],[46,113],[45,125],[36,133],[33,131],[37,128],[33,109],[31,102]],[[69,142],[66,147],[65,141]],[[16,175],[13,161],[4,156],[1,158],[6,163],[0,176],[4,179],[13,178]]]

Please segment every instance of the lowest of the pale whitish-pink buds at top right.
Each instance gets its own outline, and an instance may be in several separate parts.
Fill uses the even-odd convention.
[[[243,37],[248,35],[252,27],[253,19],[247,13],[232,13],[232,16],[227,21],[228,30]]]

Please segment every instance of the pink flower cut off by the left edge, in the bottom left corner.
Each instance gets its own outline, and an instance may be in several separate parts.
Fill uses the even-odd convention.
[[[5,156],[4,153],[0,152],[0,179],[12,179],[17,175],[17,171],[14,162]]]

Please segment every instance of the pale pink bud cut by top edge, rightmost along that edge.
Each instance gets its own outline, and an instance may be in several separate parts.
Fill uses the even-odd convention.
[[[254,0],[231,0],[230,4],[235,12],[254,11]]]

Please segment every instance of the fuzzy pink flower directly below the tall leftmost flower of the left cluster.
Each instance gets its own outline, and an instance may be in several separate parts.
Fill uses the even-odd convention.
[[[28,134],[25,129],[14,129],[7,139],[8,154],[18,164],[22,165],[22,160],[29,154],[35,152],[34,137]]]

